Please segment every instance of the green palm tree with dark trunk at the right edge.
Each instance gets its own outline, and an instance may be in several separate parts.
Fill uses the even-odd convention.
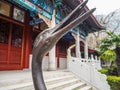
[[[120,76],[120,34],[114,32],[107,32],[107,34],[108,38],[103,39],[99,46],[100,57],[103,60],[115,61]]]

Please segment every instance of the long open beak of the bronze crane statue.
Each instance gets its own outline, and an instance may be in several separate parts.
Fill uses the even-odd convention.
[[[61,21],[56,27],[51,29],[50,32],[51,32],[51,37],[53,37],[53,41],[54,39],[58,41],[70,29],[82,23],[95,11],[96,8],[93,8],[83,13],[83,8],[87,2],[88,0],[79,4],[63,21]],[[78,15],[77,18],[75,18],[76,15]]]

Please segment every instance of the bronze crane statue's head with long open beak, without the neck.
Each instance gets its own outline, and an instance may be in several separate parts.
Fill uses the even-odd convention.
[[[94,12],[95,8],[83,13],[83,7],[86,5],[86,3],[87,0],[78,5],[56,27],[49,28],[41,32],[34,42],[33,52],[37,52],[39,53],[39,55],[47,53],[56,44],[56,42],[70,29],[76,27],[85,19],[87,19],[90,16],[90,14]],[[76,16],[77,18],[75,18]]]

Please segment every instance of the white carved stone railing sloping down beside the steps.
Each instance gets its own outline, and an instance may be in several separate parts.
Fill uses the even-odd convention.
[[[100,63],[97,60],[80,59],[71,56],[71,49],[74,46],[71,46],[68,49],[68,69],[78,76],[81,80],[86,81],[87,83],[94,86],[97,90],[110,90],[110,86],[106,81],[107,77],[104,74],[98,72],[96,65]],[[97,69],[96,69],[97,68]]]

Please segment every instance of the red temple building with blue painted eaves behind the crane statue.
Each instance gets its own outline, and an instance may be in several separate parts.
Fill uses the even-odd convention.
[[[0,70],[31,68],[32,47],[36,36],[60,23],[83,0],[0,0]],[[88,11],[85,6],[83,12]],[[81,12],[81,13],[83,13]],[[88,48],[89,33],[102,30],[93,15],[64,35],[44,57],[44,70],[67,68],[67,49],[77,42],[80,58],[95,51]],[[76,44],[77,44],[76,43]],[[72,50],[72,55],[77,50]]]

